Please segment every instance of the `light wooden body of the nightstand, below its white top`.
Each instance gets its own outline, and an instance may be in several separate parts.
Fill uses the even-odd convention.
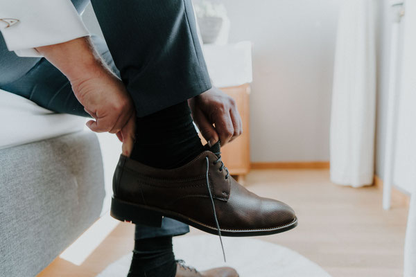
[[[245,175],[250,171],[250,106],[249,94],[250,84],[241,84],[237,87],[220,88],[236,100],[237,108],[243,121],[243,134],[237,139],[221,148],[221,157],[227,166],[229,173],[233,175],[240,184],[245,181]],[[200,136],[202,138],[202,136]],[[205,144],[205,139],[202,139]]]

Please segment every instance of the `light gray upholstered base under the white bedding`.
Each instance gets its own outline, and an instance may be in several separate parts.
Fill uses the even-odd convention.
[[[0,150],[0,277],[36,276],[98,219],[104,196],[92,132]]]

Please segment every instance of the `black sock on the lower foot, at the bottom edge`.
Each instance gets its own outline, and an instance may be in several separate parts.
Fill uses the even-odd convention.
[[[128,277],[174,277],[175,274],[172,237],[135,240]]]

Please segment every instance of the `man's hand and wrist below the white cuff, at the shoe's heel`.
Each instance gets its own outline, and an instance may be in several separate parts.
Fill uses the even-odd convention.
[[[96,53],[89,38],[36,48],[67,76],[76,98],[95,120],[94,132],[117,134],[123,154],[130,156],[135,136],[135,108],[125,86]]]

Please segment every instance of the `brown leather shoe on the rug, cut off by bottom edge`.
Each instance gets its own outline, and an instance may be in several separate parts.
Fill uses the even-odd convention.
[[[239,274],[232,267],[216,267],[200,272],[178,260],[175,277],[239,277]]]

